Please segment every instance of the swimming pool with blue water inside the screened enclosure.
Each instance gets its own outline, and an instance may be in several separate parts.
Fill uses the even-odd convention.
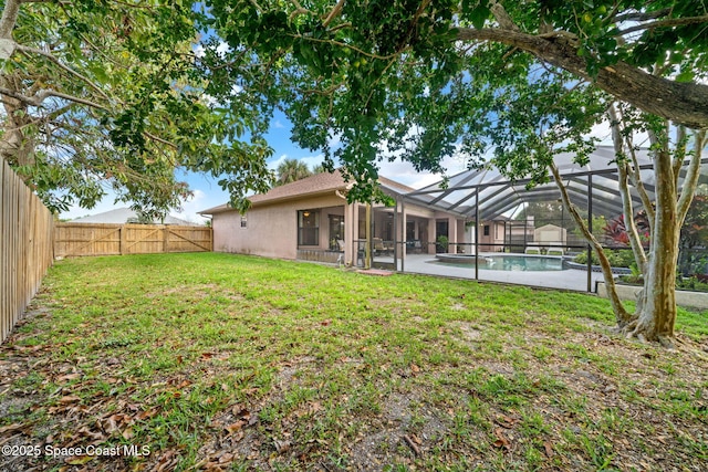
[[[472,254],[436,254],[436,263],[458,268],[475,265]],[[479,269],[487,271],[563,271],[563,258],[533,254],[489,254],[479,256]]]

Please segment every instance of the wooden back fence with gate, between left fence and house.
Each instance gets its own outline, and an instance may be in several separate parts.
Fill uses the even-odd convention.
[[[54,256],[210,252],[211,228],[163,224],[56,223]]]

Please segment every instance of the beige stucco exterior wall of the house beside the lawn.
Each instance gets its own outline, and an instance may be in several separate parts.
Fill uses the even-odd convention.
[[[247,216],[248,225],[241,228],[238,211],[212,217],[214,250],[256,254],[267,258],[296,259],[298,211],[320,210],[320,244],[308,249],[327,249],[329,214],[344,214],[345,201],[334,195],[319,198],[256,206]]]

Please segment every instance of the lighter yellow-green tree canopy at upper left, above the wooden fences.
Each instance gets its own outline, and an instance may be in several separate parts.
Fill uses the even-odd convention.
[[[176,168],[218,178],[237,206],[268,188],[260,120],[195,51],[208,28],[199,6],[4,2],[0,155],[51,208],[90,208],[107,182],[164,213],[189,193]]]

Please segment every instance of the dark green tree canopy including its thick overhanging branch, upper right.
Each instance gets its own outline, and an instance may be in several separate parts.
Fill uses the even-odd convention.
[[[330,167],[344,164],[361,196],[382,156],[442,170],[440,158],[460,150],[460,130],[489,123],[445,119],[498,98],[485,78],[537,80],[546,71],[565,77],[553,80],[556,96],[561,87],[585,86],[677,124],[708,126],[708,86],[700,83],[708,14],[693,1],[207,4],[230,46],[233,80],[282,106],[293,139],[323,150]],[[342,143],[334,149],[333,136]],[[488,144],[462,145],[469,151]]]

